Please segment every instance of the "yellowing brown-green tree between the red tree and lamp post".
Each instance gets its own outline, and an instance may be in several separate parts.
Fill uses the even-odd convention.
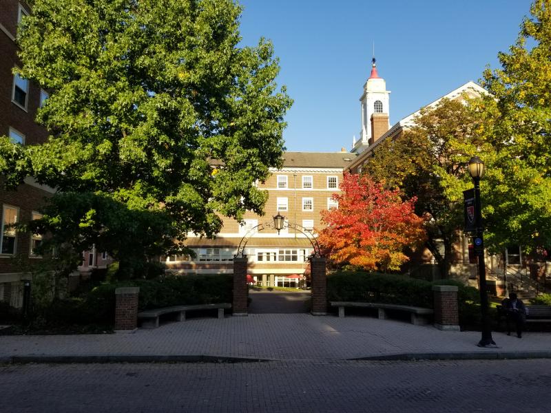
[[[442,99],[424,107],[415,125],[382,142],[364,167],[386,187],[401,189],[406,199],[417,197],[415,211],[426,219],[426,247],[444,278],[463,226],[462,191],[472,187],[466,165],[487,146],[480,138],[481,118],[466,101]]]

